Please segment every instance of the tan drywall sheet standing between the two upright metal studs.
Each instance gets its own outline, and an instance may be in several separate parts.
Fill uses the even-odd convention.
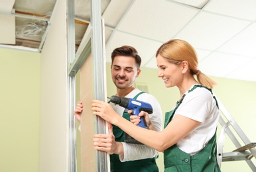
[[[94,97],[92,76],[92,54],[88,56],[80,69],[80,100],[84,110],[81,116],[81,171],[96,171],[96,150],[93,136],[95,133],[96,117],[92,114],[92,99]]]

